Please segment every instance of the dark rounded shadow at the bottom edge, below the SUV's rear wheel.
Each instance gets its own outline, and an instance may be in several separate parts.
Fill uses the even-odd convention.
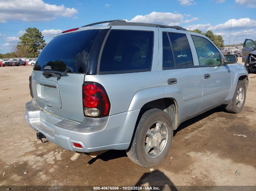
[[[172,181],[160,170],[144,173],[135,184],[135,189],[133,190],[140,190],[140,186],[151,186],[150,190],[163,190],[165,188],[164,190],[166,191],[178,191]],[[154,189],[153,187],[158,187],[159,189]]]

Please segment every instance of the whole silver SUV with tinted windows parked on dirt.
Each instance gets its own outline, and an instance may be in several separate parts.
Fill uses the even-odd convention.
[[[220,105],[231,113],[244,107],[248,72],[207,37],[178,26],[105,22],[63,31],[38,56],[25,117],[41,141],[89,155],[126,150],[152,167],[185,120]]]

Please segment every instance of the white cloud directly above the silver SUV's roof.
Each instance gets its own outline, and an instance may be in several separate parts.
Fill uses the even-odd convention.
[[[128,21],[128,20],[126,20]],[[147,15],[137,15],[129,22],[156,23],[165,25],[178,25],[183,21],[182,14],[153,11]]]

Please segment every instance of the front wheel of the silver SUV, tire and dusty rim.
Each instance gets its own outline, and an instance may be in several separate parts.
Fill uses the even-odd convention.
[[[240,88],[242,88],[242,89],[240,89]],[[241,93],[240,93],[240,90],[241,90]],[[240,94],[241,94],[241,96],[240,96]],[[242,98],[242,100],[241,100],[241,98]],[[246,99],[245,84],[243,81],[238,80],[236,90],[235,90],[234,96],[231,100],[231,103],[229,103],[225,107],[225,110],[230,113],[239,113],[244,107],[245,99]]]

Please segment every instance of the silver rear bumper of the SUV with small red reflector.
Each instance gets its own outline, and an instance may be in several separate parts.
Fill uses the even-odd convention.
[[[127,149],[139,111],[134,110],[108,116],[106,120],[91,124],[92,128],[90,128],[88,123],[93,123],[93,121],[88,121],[85,118],[84,122],[78,123],[54,116],[40,109],[31,101],[26,104],[25,118],[28,125],[35,131],[42,132],[50,142],[60,145],[62,148],[70,151],[94,152]],[[62,124],[67,121],[69,123],[65,123],[66,125]],[[69,124],[71,124],[70,127]],[[77,124],[79,128],[74,128],[72,124]],[[101,128],[102,125],[104,126]],[[86,132],[88,130],[83,127],[90,129],[90,132]],[[93,129],[101,130],[93,131]],[[83,148],[76,148],[73,143],[79,143]]]

